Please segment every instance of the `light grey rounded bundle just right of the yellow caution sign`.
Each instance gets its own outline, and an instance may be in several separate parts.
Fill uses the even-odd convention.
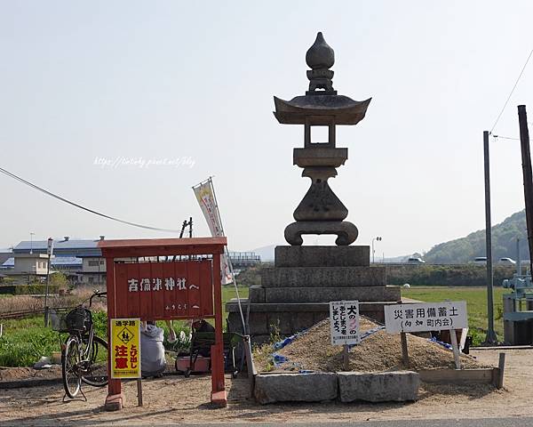
[[[155,325],[140,326],[140,370],[142,376],[163,374],[166,367],[163,329]]]

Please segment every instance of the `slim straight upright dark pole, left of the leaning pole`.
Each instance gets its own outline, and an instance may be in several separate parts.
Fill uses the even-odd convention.
[[[490,163],[489,163],[489,131],[483,132],[483,152],[485,160],[485,241],[487,244],[487,317],[488,327],[485,344],[497,343],[494,332],[494,296],[492,277],[492,230],[490,225]]]

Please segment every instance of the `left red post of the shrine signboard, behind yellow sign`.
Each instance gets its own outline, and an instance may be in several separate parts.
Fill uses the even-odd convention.
[[[116,316],[116,298],[115,298],[115,260],[106,258],[107,269],[107,398],[105,407],[107,411],[117,411],[123,408],[124,396],[122,392],[122,383],[120,380],[111,378],[111,319]]]

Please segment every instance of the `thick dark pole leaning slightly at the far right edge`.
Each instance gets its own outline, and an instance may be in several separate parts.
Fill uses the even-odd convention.
[[[531,153],[529,151],[529,129],[526,106],[518,106],[518,122],[520,125],[520,145],[522,157],[522,173],[524,175],[524,199],[526,202],[526,225],[528,227],[529,271],[533,273],[533,178],[531,174]]]

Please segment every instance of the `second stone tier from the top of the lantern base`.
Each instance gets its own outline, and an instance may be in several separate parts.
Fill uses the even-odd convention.
[[[279,267],[261,270],[263,287],[386,286],[385,267]]]

